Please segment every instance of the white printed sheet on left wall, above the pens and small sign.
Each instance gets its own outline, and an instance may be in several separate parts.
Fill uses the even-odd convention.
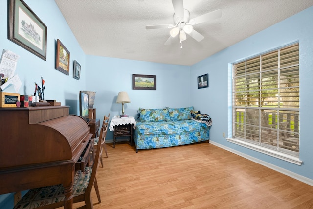
[[[14,76],[19,58],[20,56],[14,52],[3,49],[0,59],[0,74],[3,74],[4,78],[12,78]]]

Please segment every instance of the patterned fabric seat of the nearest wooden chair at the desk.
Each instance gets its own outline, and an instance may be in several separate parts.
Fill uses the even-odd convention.
[[[84,194],[92,173],[91,167],[85,167],[84,172],[78,170],[74,177],[73,196]],[[16,204],[14,209],[34,209],[56,202],[64,201],[62,185],[45,186],[29,190]]]

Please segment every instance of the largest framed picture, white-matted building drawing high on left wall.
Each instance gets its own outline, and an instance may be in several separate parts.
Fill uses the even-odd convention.
[[[47,27],[23,0],[9,0],[8,39],[46,60]]]

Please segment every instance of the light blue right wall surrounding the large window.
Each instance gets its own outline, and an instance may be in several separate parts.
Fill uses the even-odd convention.
[[[313,7],[310,7],[266,30],[263,30],[191,67],[191,100],[202,98],[195,106],[213,118],[210,140],[267,163],[313,179],[311,124],[313,118]],[[228,65],[238,60],[263,53],[298,41],[300,55],[300,160],[301,166],[255,152],[226,141],[223,132],[231,137],[231,116],[228,99]],[[198,90],[194,78],[209,73],[209,88]]]

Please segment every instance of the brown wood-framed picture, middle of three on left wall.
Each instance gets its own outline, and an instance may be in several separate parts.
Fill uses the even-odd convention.
[[[66,75],[69,75],[69,51],[58,39],[57,54],[55,56],[55,69],[60,70]]]

